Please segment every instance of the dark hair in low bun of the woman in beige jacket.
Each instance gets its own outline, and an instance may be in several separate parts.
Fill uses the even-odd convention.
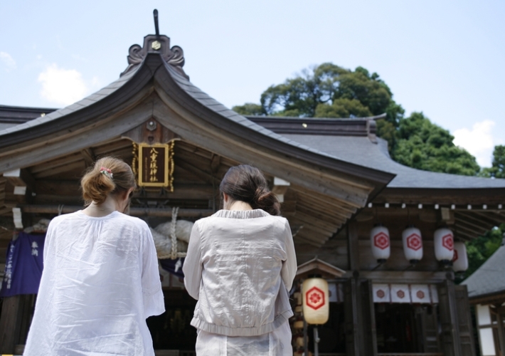
[[[260,169],[248,164],[231,167],[219,185],[221,193],[233,200],[245,201],[252,209],[263,209],[271,215],[280,215],[280,203],[268,189],[267,179]]]

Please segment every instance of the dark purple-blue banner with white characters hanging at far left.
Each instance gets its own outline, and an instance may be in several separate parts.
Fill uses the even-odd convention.
[[[38,293],[45,239],[46,234],[31,235],[20,232],[16,241],[9,243],[0,297]]]

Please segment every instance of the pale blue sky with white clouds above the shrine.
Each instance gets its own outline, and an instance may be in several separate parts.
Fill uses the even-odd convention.
[[[505,1],[0,1],[0,105],[60,108],[112,82],[153,9],[228,107],[309,66],[363,66],[482,166],[505,144]]]

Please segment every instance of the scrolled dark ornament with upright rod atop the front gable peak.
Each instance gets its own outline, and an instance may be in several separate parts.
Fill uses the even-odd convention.
[[[153,16],[156,34],[145,36],[143,47],[138,44],[134,44],[129,48],[127,57],[128,66],[124,72],[119,75],[119,77],[137,69],[137,67],[144,61],[144,58],[146,58],[147,53],[159,53],[166,63],[172,66],[172,68],[174,68],[179,74],[189,79],[188,75],[186,75],[182,69],[184,66],[184,51],[182,51],[182,48],[179,46],[173,46],[170,48],[170,38],[159,34],[158,10],[154,9]]]

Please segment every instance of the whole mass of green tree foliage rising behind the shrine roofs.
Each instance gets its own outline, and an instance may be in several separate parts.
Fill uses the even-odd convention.
[[[377,135],[388,141],[390,155],[409,167],[434,172],[475,175],[479,165],[466,150],[452,143],[449,131],[433,124],[422,112],[405,117],[393,93],[377,73],[363,67],[349,70],[323,63],[303,70],[284,83],[271,85],[260,105],[246,103],[233,107],[243,115],[294,117],[367,117],[386,113],[377,121]],[[501,166],[490,175],[503,174]],[[498,162],[498,161],[497,161]],[[501,172],[501,173],[500,173]]]

